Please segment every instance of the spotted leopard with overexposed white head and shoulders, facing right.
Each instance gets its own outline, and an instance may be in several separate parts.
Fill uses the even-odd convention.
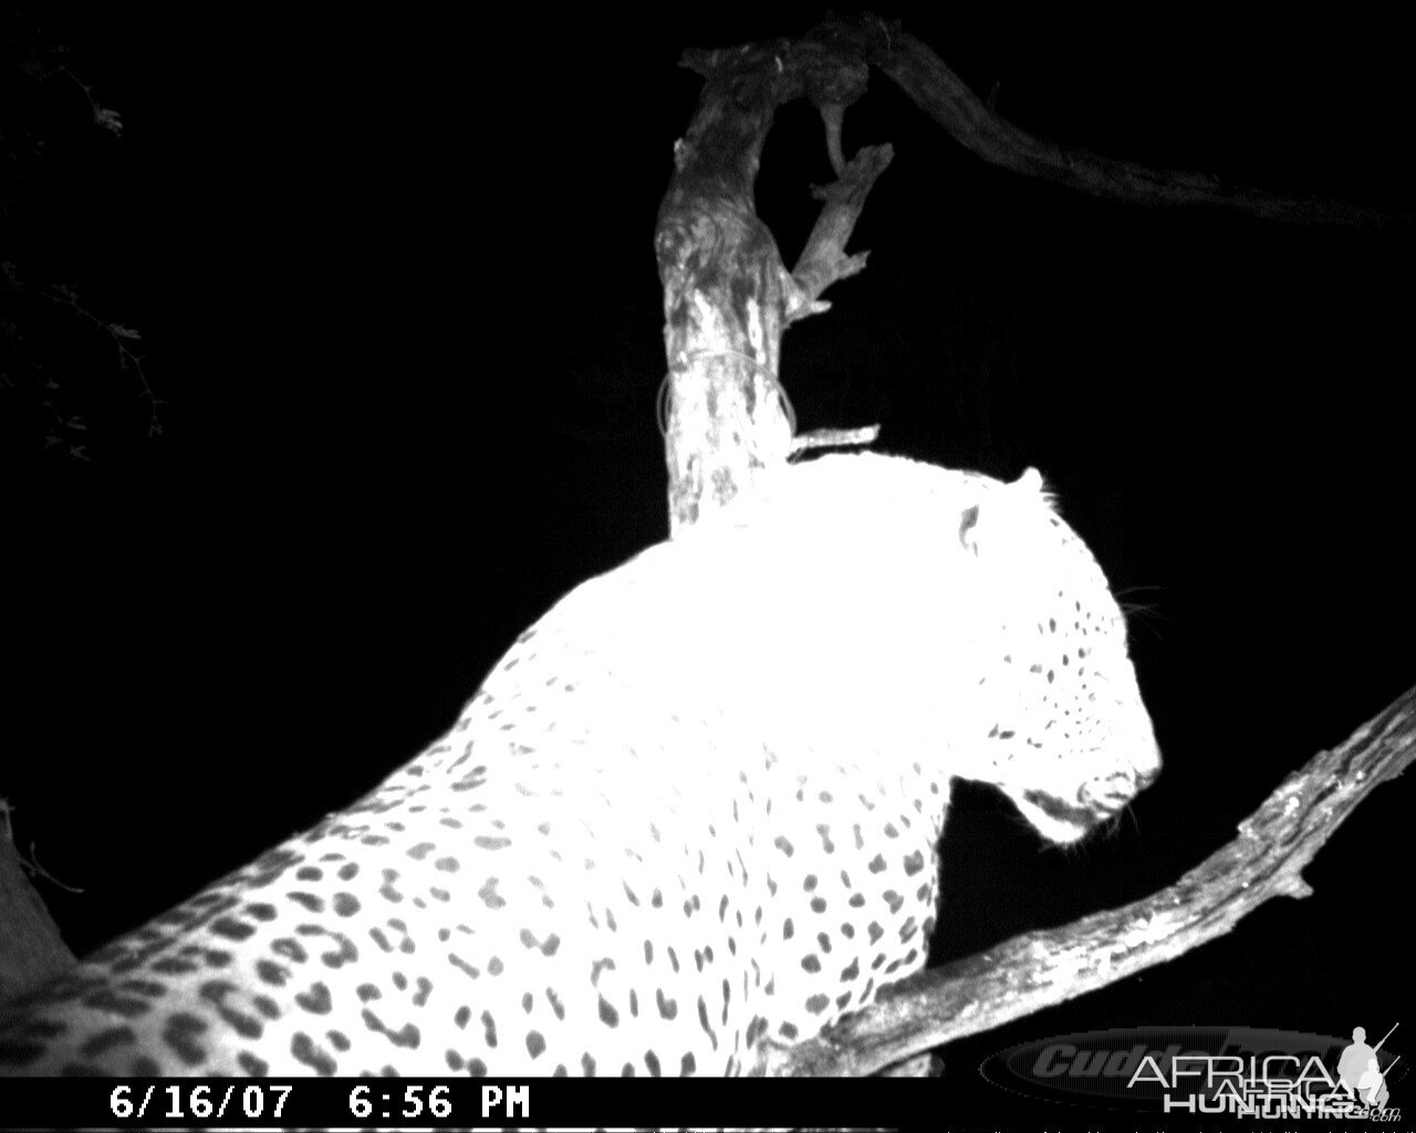
[[[956,776],[1158,770],[1037,473],[828,456],[568,595],[372,795],[11,1013],[18,1074],[736,1074],[925,963]]]

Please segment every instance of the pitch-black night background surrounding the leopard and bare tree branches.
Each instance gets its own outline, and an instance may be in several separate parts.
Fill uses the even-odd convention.
[[[25,102],[4,118],[44,154],[17,163],[6,137],[0,259],[137,330],[161,401],[149,436],[110,340],[0,295],[0,796],[21,850],[82,891],[40,882],[78,953],[375,786],[559,595],[667,533],[651,238],[700,82],[675,64],[821,10],[507,7],[6,16],[67,44],[123,130],[8,48],[4,96]],[[1412,211],[1409,40],[1385,8],[881,10],[1035,135]],[[944,959],[1170,884],[1416,680],[1413,242],[1409,221],[1304,228],[1022,178],[881,75],[845,142],[896,157],[851,245],[867,271],[784,340],[801,429],[881,422],[886,452],[1039,467],[1138,606],[1165,756],[1075,853],[959,787]],[[814,112],[789,106],[758,187],[787,265],[830,176]],[[50,378],[82,432],[44,406]],[[946,1081],[1138,1024],[1403,1021],[1400,1049],[1413,806],[1409,779],[1381,787],[1311,898],[960,1042]]]

